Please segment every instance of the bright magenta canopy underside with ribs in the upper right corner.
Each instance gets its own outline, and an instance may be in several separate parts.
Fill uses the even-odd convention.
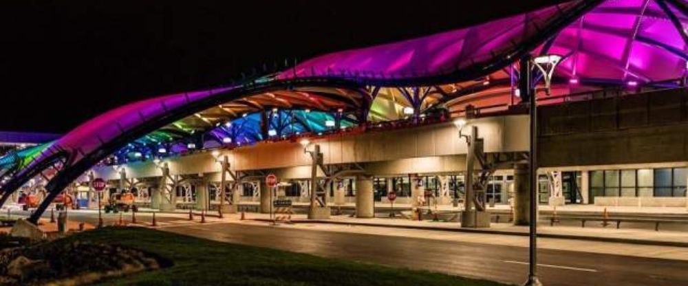
[[[550,54],[566,78],[650,83],[686,71],[685,0],[605,1],[559,32]],[[672,18],[677,21],[672,21]],[[678,24],[678,25],[677,25]]]

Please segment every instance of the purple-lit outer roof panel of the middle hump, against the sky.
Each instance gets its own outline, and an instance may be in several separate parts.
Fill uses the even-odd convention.
[[[466,70],[486,71],[519,51],[528,52],[529,45],[537,45],[539,37],[555,32],[554,26],[570,23],[563,18],[581,13],[589,2],[570,1],[469,28],[325,54],[281,73],[279,78],[343,77],[387,85],[437,76],[471,80],[479,75],[466,74]]]

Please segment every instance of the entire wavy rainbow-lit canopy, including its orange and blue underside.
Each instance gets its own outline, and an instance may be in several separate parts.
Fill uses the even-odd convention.
[[[497,95],[495,100],[504,102],[499,96],[506,94],[518,102],[515,65],[524,56],[561,56],[555,89],[566,92],[599,85],[676,85],[687,68],[687,16],[685,0],[570,1],[469,28],[326,54],[230,87],[134,102],[65,134],[2,190],[16,190],[58,158],[65,164],[47,186],[48,202],[112,154],[145,159],[162,148],[167,153],[236,146],[365,127],[370,120],[416,123],[428,114],[451,116],[465,98],[477,102]]]

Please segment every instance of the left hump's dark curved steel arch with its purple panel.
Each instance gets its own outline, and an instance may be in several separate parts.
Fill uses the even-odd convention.
[[[358,89],[356,83],[347,80],[273,80],[267,83],[252,83],[237,87],[162,96],[152,100],[134,102],[108,111],[104,115],[100,115],[98,118],[78,126],[74,131],[67,133],[56,142],[56,146],[65,148],[67,153],[69,153],[69,162],[45,186],[48,195],[29,218],[29,221],[37,223],[47,206],[68,184],[108,155],[114,153],[114,151],[127,145],[131,140],[136,140],[136,138],[171,124],[175,120],[215,107],[224,102],[247,98],[261,92],[312,86],[337,87],[350,90]],[[176,104],[164,103],[172,101],[176,102]],[[159,105],[151,108],[151,105],[156,104]],[[148,116],[142,113],[142,110],[146,111],[146,109],[149,109],[147,110],[149,112]],[[153,111],[151,109],[156,110]],[[136,119],[130,118],[132,116]],[[131,126],[125,124],[131,124]],[[107,136],[107,140],[105,140],[105,133],[101,129],[106,129],[105,131],[110,132],[116,131],[118,134],[110,134]],[[96,137],[100,144],[94,146],[92,137]],[[36,173],[38,168],[30,169],[33,173]],[[19,188],[21,184],[14,184],[13,186]]]

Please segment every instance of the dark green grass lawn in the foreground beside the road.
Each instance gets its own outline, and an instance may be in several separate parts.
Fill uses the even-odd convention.
[[[115,243],[173,261],[172,267],[103,285],[501,285],[458,276],[220,243],[147,228],[103,228],[67,237]]]

